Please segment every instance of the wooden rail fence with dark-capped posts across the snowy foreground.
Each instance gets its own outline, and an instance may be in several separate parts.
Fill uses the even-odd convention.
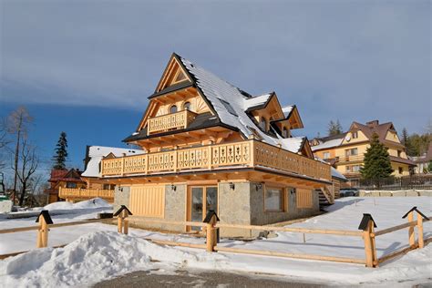
[[[417,213],[417,221],[414,221],[414,214]],[[142,221],[145,223],[158,223],[158,224],[170,224],[179,226],[197,226],[201,227],[203,233],[205,234],[206,243],[188,243],[188,242],[171,242],[164,240],[146,239],[151,242],[170,245],[170,246],[180,246],[189,248],[205,249],[207,252],[234,252],[234,253],[244,253],[244,254],[254,254],[254,255],[264,255],[264,256],[276,256],[294,259],[306,259],[306,260],[319,260],[319,261],[330,261],[330,262],[349,262],[357,264],[365,264],[366,267],[377,267],[379,263],[386,262],[389,259],[395,258],[396,256],[402,255],[413,249],[423,248],[425,244],[432,241],[432,238],[424,239],[423,233],[423,222],[429,221],[427,216],[417,210],[414,207],[406,213],[403,218],[407,218],[407,222],[404,224],[396,225],[394,227],[386,228],[384,230],[375,231],[376,225],[375,221],[370,214],[364,214],[364,217],[358,227],[359,231],[345,231],[345,230],[327,230],[327,229],[308,229],[308,228],[289,228],[289,227],[274,227],[274,226],[259,226],[259,225],[238,225],[238,224],[226,224],[220,223],[218,216],[214,211],[209,211],[205,220],[203,222],[195,221],[163,221],[163,220],[149,220],[145,217],[133,216],[132,213],[126,206],[122,206],[115,214],[117,217],[118,232],[128,234],[129,233],[129,222],[130,221]],[[48,231],[52,228],[83,225],[94,222],[112,222],[115,219],[97,219],[97,220],[87,220],[87,221],[73,221],[66,223],[54,224],[49,216],[48,211],[42,211],[37,218],[39,223],[38,226],[30,227],[20,227],[0,230],[0,234],[20,232],[20,231],[33,231],[37,230],[36,237],[36,247],[42,248],[47,247],[48,244]],[[415,228],[417,227],[417,242],[415,239]],[[324,256],[315,254],[301,254],[301,253],[290,253],[290,252],[274,252],[274,251],[262,251],[262,250],[252,250],[252,249],[242,249],[233,247],[218,246],[217,242],[217,229],[220,228],[230,228],[230,229],[245,229],[254,231],[286,231],[294,233],[315,233],[315,234],[325,234],[325,235],[337,235],[339,237],[360,237],[363,238],[365,246],[365,258],[348,258],[339,256]],[[376,237],[391,233],[394,231],[399,231],[402,229],[408,229],[408,244],[407,248],[400,251],[392,252],[386,254],[381,258],[376,256]],[[0,255],[0,259],[8,256],[13,256],[20,252],[15,252],[6,255]]]

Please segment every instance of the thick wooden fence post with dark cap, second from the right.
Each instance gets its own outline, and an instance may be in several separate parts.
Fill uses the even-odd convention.
[[[376,257],[375,247],[375,221],[371,214],[363,214],[363,219],[358,226],[359,230],[363,230],[363,241],[365,242],[365,264],[366,267],[376,267],[378,259]]]

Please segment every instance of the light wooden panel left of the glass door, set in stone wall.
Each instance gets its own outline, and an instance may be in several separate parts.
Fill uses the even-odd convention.
[[[165,185],[131,186],[129,207],[137,216],[163,218]]]

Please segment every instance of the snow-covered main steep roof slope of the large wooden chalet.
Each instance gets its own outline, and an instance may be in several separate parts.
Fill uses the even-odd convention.
[[[279,136],[272,137],[264,133],[245,112],[247,108],[267,101],[273,93],[255,98],[247,97],[238,87],[234,87],[204,68],[198,67],[182,57],[180,57],[180,60],[183,66],[188,69],[190,75],[195,78],[197,86],[200,87],[204,96],[211,102],[211,106],[218,114],[222,123],[240,129],[242,134],[247,138],[258,133],[263,142],[275,146],[280,144],[283,149],[294,153],[299,151],[301,147],[297,145],[298,139],[283,139]]]

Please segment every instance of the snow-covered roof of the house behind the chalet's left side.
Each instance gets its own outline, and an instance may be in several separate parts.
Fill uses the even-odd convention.
[[[104,146],[90,146],[87,148],[87,162],[86,170],[81,174],[83,177],[99,177],[99,163],[100,161],[112,153],[116,157],[139,155],[143,154],[143,150],[139,149],[125,149],[116,147],[104,147]]]

